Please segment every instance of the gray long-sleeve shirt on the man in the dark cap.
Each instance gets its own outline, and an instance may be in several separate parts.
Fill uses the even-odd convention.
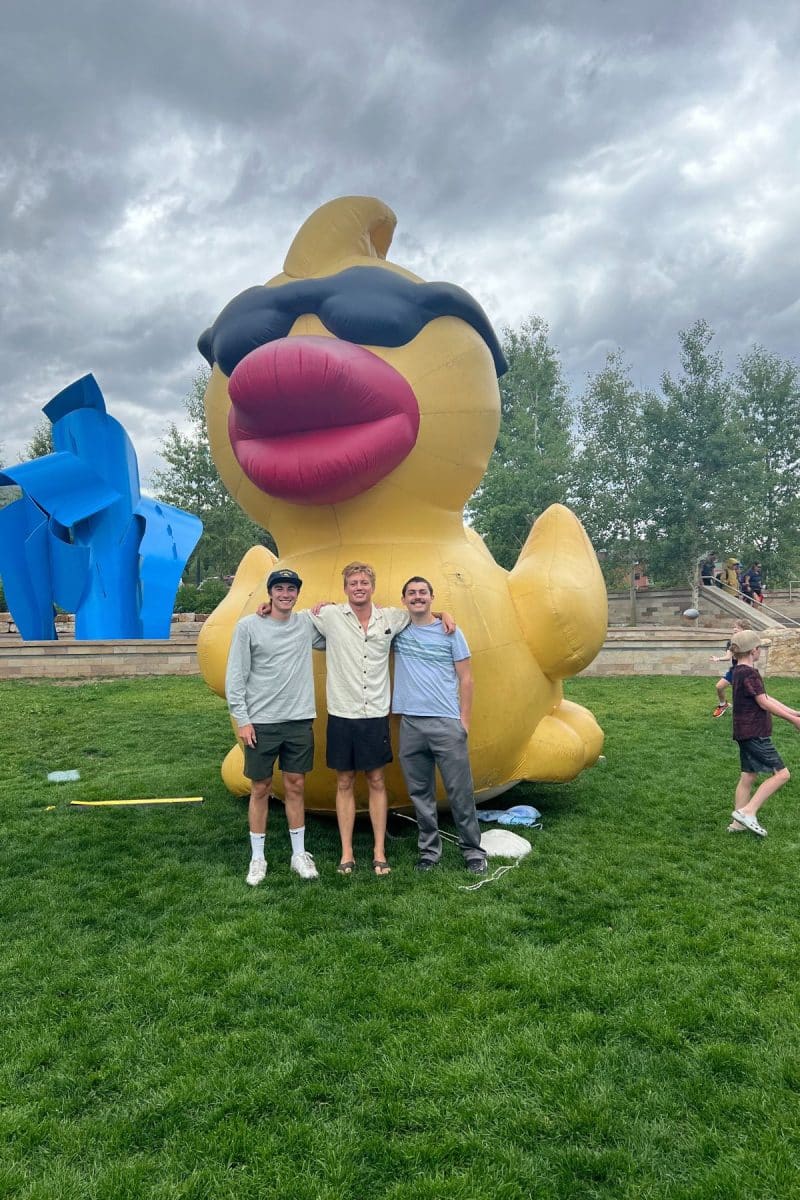
[[[288,620],[252,613],[236,622],[225,697],[239,726],[303,721],[317,715],[312,647],[325,649],[308,612]]]

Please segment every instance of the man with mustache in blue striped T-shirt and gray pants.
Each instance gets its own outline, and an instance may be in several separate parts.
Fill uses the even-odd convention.
[[[403,586],[410,623],[392,643],[392,712],[402,714],[399,761],[419,826],[419,871],[441,858],[435,768],[447,793],[467,869],[485,875],[486,852],[475,815],[467,738],[473,712],[473,671],[461,630],[445,634],[432,611],[433,588],[420,575]]]

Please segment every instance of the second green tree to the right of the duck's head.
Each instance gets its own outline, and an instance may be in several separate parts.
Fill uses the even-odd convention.
[[[621,350],[589,377],[578,402],[573,508],[599,552],[606,580],[619,587],[643,553],[645,442],[643,409]]]

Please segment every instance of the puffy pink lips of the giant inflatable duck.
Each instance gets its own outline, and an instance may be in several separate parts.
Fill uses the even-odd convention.
[[[409,383],[362,346],[282,337],[241,360],[228,382],[239,466],[267,496],[338,504],[368,491],[416,443]]]

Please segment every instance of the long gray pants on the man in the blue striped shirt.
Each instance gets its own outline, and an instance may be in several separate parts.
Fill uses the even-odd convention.
[[[475,816],[467,733],[461,721],[452,716],[403,716],[399,761],[420,828],[420,858],[431,863],[441,858],[435,799],[438,767],[462,853],[468,863],[483,862],[486,852],[481,850],[481,829]]]

